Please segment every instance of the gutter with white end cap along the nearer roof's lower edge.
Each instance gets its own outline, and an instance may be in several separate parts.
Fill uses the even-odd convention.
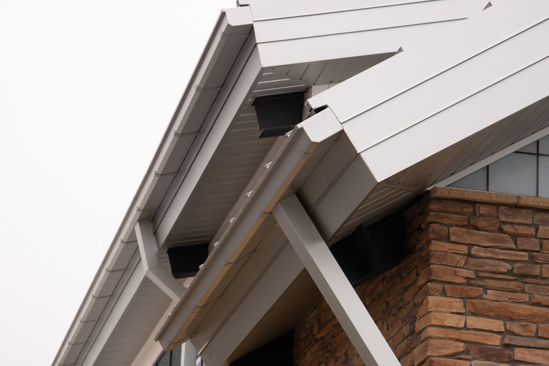
[[[250,255],[264,235],[256,232],[265,230],[261,226],[270,221],[271,210],[281,199],[295,193],[300,184],[295,184],[294,179],[304,165],[310,158],[316,164],[322,155],[315,152],[331,146],[341,130],[329,108],[294,128],[156,336],[166,350],[187,340],[198,327],[242,265],[234,271],[231,267],[244,262],[240,259]]]

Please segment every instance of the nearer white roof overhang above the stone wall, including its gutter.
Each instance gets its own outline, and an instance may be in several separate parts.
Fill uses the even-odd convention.
[[[289,135],[158,334],[163,347],[190,338],[212,366],[253,349],[247,335],[303,270],[270,215],[281,199],[298,196],[333,242],[432,185],[429,169],[442,180],[547,127],[536,109],[549,95],[548,18],[546,2],[498,3],[309,99],[321,111]]]

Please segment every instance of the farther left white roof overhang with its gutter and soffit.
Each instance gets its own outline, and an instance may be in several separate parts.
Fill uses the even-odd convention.
[[[254,139],[255,120],[248,119],[253,118],[250,102],[254,96],[343,81],[389,58],[399,47],[406,49],[479,12],[484,1],[376,0],[366,5],[363,2],[356,5],[352,1],[314,2],[313,13],[322,13],[321,16],[310,14],[310,11],[309,15],[302,13],[305,9],[302,4],[309,2],[299,2],[293,4],[293,10],[289,7],[280,10],[281,13],[277,13],[281,8],[268,10],[273,14],[271,20],[258,18],[258,14],[266,10],[256,2],[251,2],[249,7],[224,10],[54,364],[93,364],[105,354],[103,350],[111,346],[113,332],[124,327],[123,315],[131,307],[133,296],[144,279],[144,273],[139,271],[141,266],[138,266],[139,254],[133,233],[138,220],[152,219],[156,240],[163,248],[215,239],[225,232],[229,213],[238,211],[254,172],[261,175],[261,171],[256,170],[262,165],[261,156],[265,156],[273,144],[269,139],[260,142]],[[446,4],[447,8],[440,4]],[[412,6],[417,7],[417,14],[412,10],[407,12],[410,18],[396,16],[402,9],[413,9]],[[342,15],[341,10],[346,14]],[[422,18],[419,13],[427,10],[428,18]],[[386,23],[374,26],[360,21],[361,17],[380,17],[379,12],[384,12]],[[297,15],[307,16],[296,20]],[[340,25],[341,16],[355,21]],[[287,25],[283,26],[281,22],[287,22]],[[300,26],[301,22],[306,26]],[[338,25],[333,31],[325,26],[331,23]],[[287,28],[289,33],[279,35],[278,26]],[[314,132],[309,131],[310,134]],[[226,144],[231,140],[239,144],[234,150]],[[253,153],[248,154],[248,148]],[[310,162],[318,163],[316,159],[327,150],[329,148],[322,150]],[[345,166],[354,167],[357,162],[346,162]],[[251,168],[253,165],[255,167]],[[238,167],[245,170],[244,174],[238,174]],[[234,185],[216,186],[216,181],[227,174],[234,178]],[[298,176],[304,184],[307,171],[301,171]],[[308,188],[304,197],[315,189]],[[334,191],[335,187],[329,194],[310,195],[311,211],[323,211],[324,204],[337,199]],[[212,196],[213,192],[222,197]],[[356,196],[364,192],[358,190]],[[326,220],[321,216],[317,215],[319,222]],[[214,220],[210,220],[212,218]],[[191,219],[202,221],[197,225]],[[337,229],[338,226],[330,228],[327,235],[333,236]],[[227,257],[229,263],[231,258],[231,255]],[[232,266],[232,276],[247,258]],[[199,282],[208,287],[219,285],[217,291],[220,291],[231,278],[221,276],[221,283],[215,283],[213,278],[201,278]],[[212,293],[206,298],[210,299],[210,295]],[[205,304],[197,301],[192,306]],[[161,307],[158,307],[160,313]],[[202,309],[205,315],[207,311],[204,310],[206,308]],[[253,340],[250,342],[255,344]]]

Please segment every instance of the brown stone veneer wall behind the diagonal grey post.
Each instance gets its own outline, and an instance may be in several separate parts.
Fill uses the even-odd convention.
[[[549,365],[549,199],[433,188],[406,216],[411,254],[355,288],[401,364]],[[324,300],[294,365],[363,365]]]

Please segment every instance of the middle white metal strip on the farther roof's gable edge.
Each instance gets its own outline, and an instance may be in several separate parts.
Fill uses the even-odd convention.
[[[480,12],[485,5],[485,0],[424,1],[254,21],[255,38],[257,43],[263,43],[466,19]],[[313,7],[316,8],[316,4]]]

